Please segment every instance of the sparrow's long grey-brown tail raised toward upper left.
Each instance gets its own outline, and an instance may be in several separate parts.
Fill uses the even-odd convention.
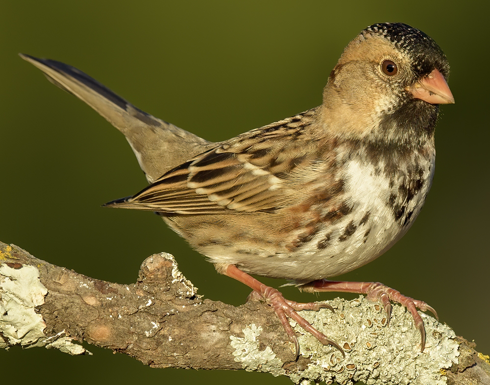
[[[55,60],[19,55],[41,69],[51,83],[87,103],[121,131],[150,182],[213,146],[199,136],[136,108],[77,68]]]

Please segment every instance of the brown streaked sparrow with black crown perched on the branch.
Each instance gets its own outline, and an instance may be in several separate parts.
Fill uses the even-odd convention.
[[[339,349],[251,275],[307,292],[351,292],[412,314],[435,310],[378,282],[337,282],[390,249],[412,226],[434,176],[439,105],[454,103],[437,43],[403,23],[368,26],[344,49],[319,107],[213,143],[139,110],[61,62],[21,57],[127,138],[150,183],[105,204],[156,212],[216,270],[249,286],[279,317],[299,355],[294,319]]]

